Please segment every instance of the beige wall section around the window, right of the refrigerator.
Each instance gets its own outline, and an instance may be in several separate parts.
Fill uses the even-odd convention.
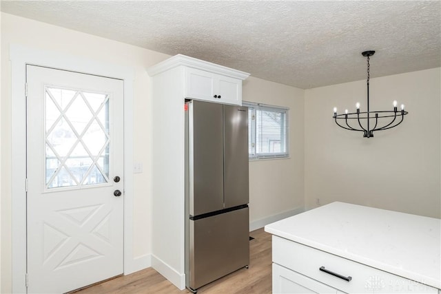
[[[250,229],[304,210],[303,108],[305,90],[250,76],[243,101],[289,107],[289,158],[249,162]]]

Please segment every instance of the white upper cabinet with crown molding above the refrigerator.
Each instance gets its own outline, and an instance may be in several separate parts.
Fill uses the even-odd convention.
[[[156,76],[174,67],[183,69],[183,98],[242,105],[242,81],[249,76],[246,72],[178,54],[150,67],[148,73]],[[170,81],[170,86],[173,83],[176,81]]]

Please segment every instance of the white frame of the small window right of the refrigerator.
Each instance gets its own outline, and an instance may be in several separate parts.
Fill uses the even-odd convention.
[[[249,160],[262,160],[262,159],[277,159],[277,158],[289,158],[289,108],[280,107],[276,105],[266,105],[262,103],[253,103],[243,101],[243,106],[248,107],[248,157]],[[251,111],[251,113],[250,113]],[[257,112],[269,111],[278,112],[283,116],[283,125],[280,126],[280,134],[285,134],[285,136],[280,136],[280,144],[284,145],[285,150],[283,152],[277,153],[263,153],[258,152],[258,142],[257,132],[258,126],[256,123]],[[254,118],[253,118],[254,116]],[[250,153],[250,151],[253,151]]]

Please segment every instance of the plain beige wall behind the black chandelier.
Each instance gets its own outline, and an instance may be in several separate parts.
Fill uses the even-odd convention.
[[[371,63],[371,73],[375,64]],[[338,127],[332,118],[366,107],[366,81],[305,92],[305,204],[343,201],[441,217],[440,68],[371,78],[371,110],[406,105],[409,115],[374,138]]]

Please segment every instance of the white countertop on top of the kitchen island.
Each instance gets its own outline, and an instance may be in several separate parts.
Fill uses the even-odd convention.
[[[265,226],[279,237],[441,288],[441,220],[333,202]]]

